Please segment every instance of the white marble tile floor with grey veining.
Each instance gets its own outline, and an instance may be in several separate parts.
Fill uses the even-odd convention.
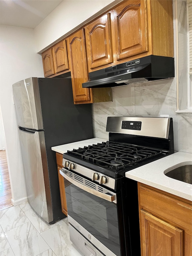
[[[47,224],[29,203],[0,211],[0,256],[83,256],[69,239],[67,217]]]

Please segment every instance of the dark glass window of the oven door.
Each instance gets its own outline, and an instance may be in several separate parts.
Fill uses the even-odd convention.
[[[102,244],[120,255],[116,203],[90,194],[65,180],[67,212]]]

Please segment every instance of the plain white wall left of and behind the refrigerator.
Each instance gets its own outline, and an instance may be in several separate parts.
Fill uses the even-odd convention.
[[[12,84],[27,77],[44,77],[44,73],[41,56],[35,50],[33,29],[1,25],[0,31],[0,105],[12,199],[18,204],[26,200],[26,188],[12,101]]]

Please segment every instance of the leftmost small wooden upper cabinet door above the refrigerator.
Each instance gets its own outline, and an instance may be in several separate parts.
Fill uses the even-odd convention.
[[[42,53],[44,76],[49,77],[54,75],[53,57],[51,49]]]

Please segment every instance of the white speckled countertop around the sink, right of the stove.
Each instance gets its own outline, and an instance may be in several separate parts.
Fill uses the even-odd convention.
[[[167,177],[169,170],[182,165],[192,164],[192,154],[176,152],[152,163],[145,164],[125,173],[125,176],[143,184],[161,189],[170,194],[192,201],[192,185]]]

